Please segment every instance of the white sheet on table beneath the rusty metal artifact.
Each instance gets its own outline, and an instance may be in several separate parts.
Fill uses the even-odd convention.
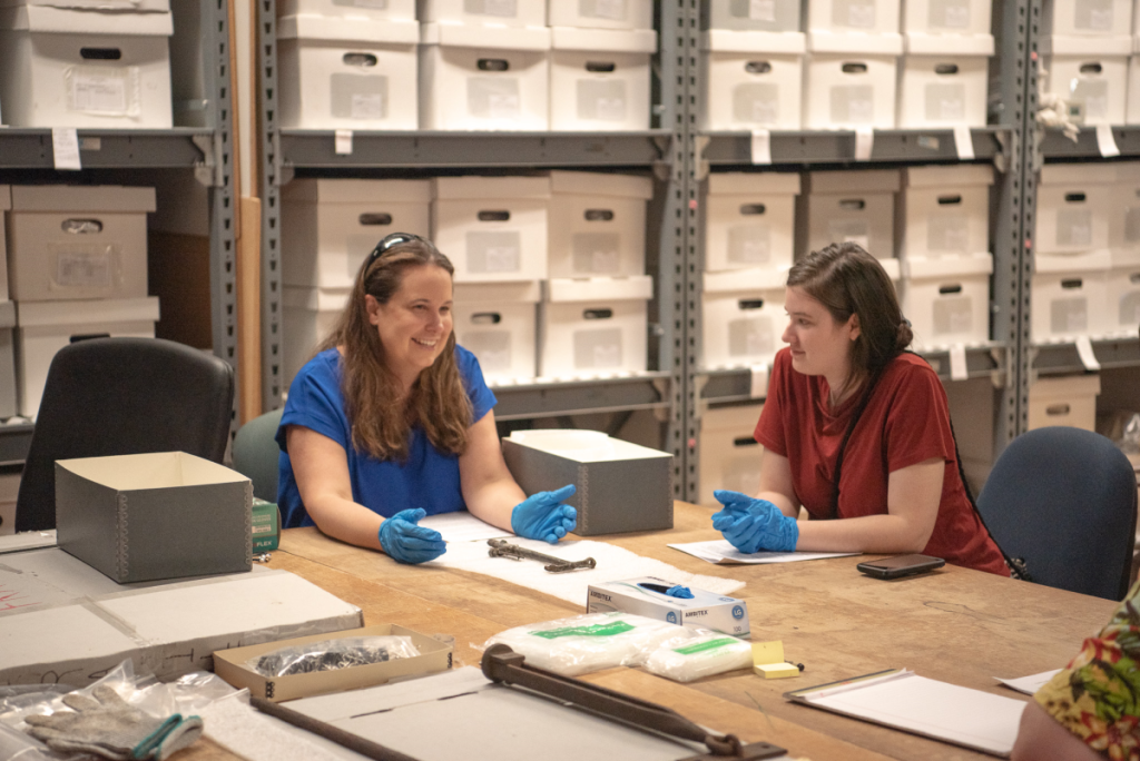
[[[722,579],[689,573],[668,563],[635,555],[621,547],[598,541],[561,541],[547,545],[544,541],[512,538],[511,543],[526,547],[544,555],[560,557],[567,560],[594,558],[597,565],[565,573],[551,573],[543,568],[538,560],[512,560],[505,557],[490,557],[490,549],[484,541],[454,542],[447,546],[447,553],[432,560],[429,565],[441,565],[510,581],[511,583],[545,592],[575,605],[585,605],[588,587],[603,581],[635,579],[637,576],[657,576],[675,584],[703,589],[717,595],[731,595],[744,586],[736,579]]]

